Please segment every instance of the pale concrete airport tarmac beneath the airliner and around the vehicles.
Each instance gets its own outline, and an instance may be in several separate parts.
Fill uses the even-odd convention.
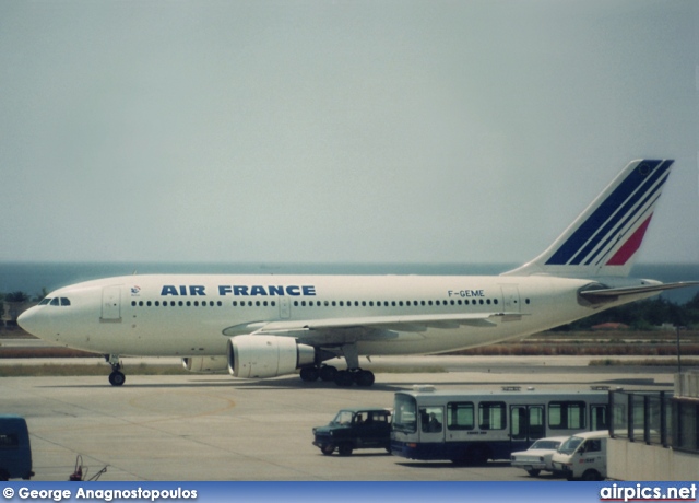
[[[559,356],[410,356],[372,359],[371,388],[304,383],[298,376],[239,381],[228,375],[129,375],[112,387],[105,375],[4,377],[3,413],[27,419],[33,480],[67,480],[82,456],[100,480],[547,480],[532,479],[507,461],[484,467],[417,463],[381,451],[323,456],[311,429],[348,406],[391,407],[393,394],[414,384],[438,389],[672,389],[674,367],[589,367]],[[3,364],[7,364],[4,362]],[[435,367],[442,372],[400,372]],[[371,369],[370,365],[366,366]],[[522,391],[525,393],[525,391]]]

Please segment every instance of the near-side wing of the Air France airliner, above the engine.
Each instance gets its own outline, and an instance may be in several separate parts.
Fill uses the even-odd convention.
[[[306,343],[343,343],[357,340],[391,339],[396,332],[419,334],[428,328],[496,327],[494,319],[514,320],[520,313],[478,313],[445,315],[371,316],[348,318],[321,318],[307,320],[280,320],[253,323],[228,327],[225,336],[270,335],[296,337]]]

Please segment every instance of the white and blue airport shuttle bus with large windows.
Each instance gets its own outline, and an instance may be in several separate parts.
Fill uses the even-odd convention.
[[[608,429],[607,391],[416,389],[395,394],[391,426],[392,454],[408,459],[509,459],[538,438]]]

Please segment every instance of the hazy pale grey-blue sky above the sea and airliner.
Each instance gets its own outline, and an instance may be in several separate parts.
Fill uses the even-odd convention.
[[[0,261],[521,264],[653,157],[696,264],[698,96],[695,0],[8,0]]]

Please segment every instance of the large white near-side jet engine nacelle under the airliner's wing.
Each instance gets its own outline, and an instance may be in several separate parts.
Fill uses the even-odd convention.
[[[228,372],[236,377],[262,378],[292,374],[312,365],[316,349],[294,338],[279,336],[236,336],[228,339]]]

